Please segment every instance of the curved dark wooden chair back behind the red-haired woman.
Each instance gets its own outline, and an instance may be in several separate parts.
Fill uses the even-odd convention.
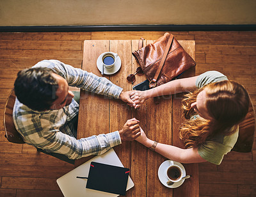
[[[243,122],[239,123],[239,136],[232,151],[244,153],[252,152],[255,128],[255,109],[250,99],[249,111]]]

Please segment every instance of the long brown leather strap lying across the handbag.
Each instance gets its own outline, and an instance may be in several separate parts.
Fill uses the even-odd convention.
[[[152,79],[152,81],[150,81],[150,83],[149,83],[149,88],[156,87],[157,78],[158,78],[158,76],[159,76],[159,74],[160,74],[160,72],[161,72],[161,70],[163,68],[164,61],[165,61],[165,59],[166,59],[166,57],[168,55],[168,52],[170,50],[170,47],[172,45],[173,38],[174,38],[174,36],[171,34],[170,38],[168,39],[168,42],[166,44],[166,48],[164,50],[164,54],[163,54],[163,57],[162,57],[161,62],[159,64],[159,67],[157,68],[156,74],[154,75],[154,78]]]

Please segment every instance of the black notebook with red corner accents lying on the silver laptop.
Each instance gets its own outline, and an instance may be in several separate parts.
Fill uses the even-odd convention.
[[[125,195],[129,168],[91,162],[86,188]]]

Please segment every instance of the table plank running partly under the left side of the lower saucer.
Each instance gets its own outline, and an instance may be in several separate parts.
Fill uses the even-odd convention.
[[[154,42],[147,40],[147,44]],[[145,132],[148,138],[161,143],[172,143],[172,97],[161,97],[159,104],[155,104],[154,99],[146,102],[144,117],[147,119]],[[149,196],[172,196],[172,190],[165,187],[158,179],[158,168],[166,160],[160,154],[148,150],[147,159],[147,194]]]

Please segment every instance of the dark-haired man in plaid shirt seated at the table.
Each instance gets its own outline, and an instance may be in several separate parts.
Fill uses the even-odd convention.
[[[17,74],[14,88],[17,97],[13,107],[15,127],[29,145],[67,162],[93,154],[140,136],[138,120],[127,120],[121,130],[89,138],[76,139],[79,104],[68,86],[134,102],[129,91],[79,68],[58,60],[44,60]],[[84,114],[90,116],[90,114]],[[68,157],[68,158],[67,158]]]

